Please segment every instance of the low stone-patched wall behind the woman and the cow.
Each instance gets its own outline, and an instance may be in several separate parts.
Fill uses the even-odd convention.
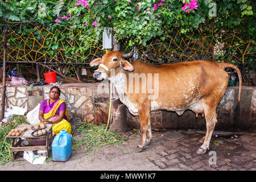
[[[109,114],[109,92],[98,92],[97,84],[64,84],[60,85],[61,96],[68,104],[69,118],[80,119],[84,122],[95,124],[107,123]],[[108,85],[107,85],[108,86]],[[35,86],[9,86],[6,92],[6,107],[20,106],[28,110],[32,110],[42,100],[48,98],[51,85]],[[109,91],[108,88],[105,88]],[[2,90],[0,88],[0,93]],[[0,94],[0,98],[2,96]],[[117,94],[114,93],[114,98]],[[234,113],[238,99],[238,87],[228,87],[225,96],[222,98],[217,107],[217,130],[251,130],[256,129],[256,87],[242,87],[240,115],[237,121],[234,121]],[[119,102],[113,104],[114,112],[118,112],[115,108],[120,105]],[[125,114],[125,119],[120,119],[117,114],[112,113],[111,121],[118,118],[127,123],[130,127],[139,128],[140,122],[138,116],[129,113],[126,107],[118,107],[125,109],[121,113]],[[112,110],[113,111],[113,110]],[[196,118],[192,111],[185,111],[181,116],[175,112],[159,110],[152,111],[152,128],[153,129],[205,129],[205,119],[199,115]],[[114,118],[113,118],[114,117]],[[126,120],[126,121],[125,121]],[[111,124],[111,123],[110,123]]]

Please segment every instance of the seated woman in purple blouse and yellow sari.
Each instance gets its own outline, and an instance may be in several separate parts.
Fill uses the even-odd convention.
[[[55,135],[59,134],[60,130],[67,130],[71,134],[67,103],[59,97],[60,89],[53,86],[50,89],[49,98],[40,104],[39,120],[46,124],[52,123],[52,131]]]

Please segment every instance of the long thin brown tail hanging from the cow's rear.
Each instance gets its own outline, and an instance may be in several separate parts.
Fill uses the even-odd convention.
[[[223,69],[233,68],[237,72],[238,79],[239,79],[239,94],[238,94],[238,102],[237,102],[236,114],[235,114],[235,121],[237,121],[237,119],[240,115],[240,98],[241,98],[241,90],[242,90],[242,75],[241,75],[240,69],[238,69],[235,65],[233,65],[231,63],[218,63],[218,64],[221,64]]]

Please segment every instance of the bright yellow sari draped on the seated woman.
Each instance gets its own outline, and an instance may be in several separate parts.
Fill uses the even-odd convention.
[[[59,108],[59,106],[65,102],[62,99],[59,99],[56,101],[55,105],[52,107],[52,109],[48,112],[48,113],[44,113],[44,119],[48,119],[49,121],[53,121],[56,117],[56,111]],[[68,120],[68,107],[67,107],[67,102],[65,102],[66,104],[66,109],[65,109],[65,118],[67,118]],[[69,134],[71,134],[71,125],[70,123],[63,118],[60,122],[58,123],[53,123],[52,124],[52,131],[57,135],[60,133],[60,130],[67,130],[67,132]]]

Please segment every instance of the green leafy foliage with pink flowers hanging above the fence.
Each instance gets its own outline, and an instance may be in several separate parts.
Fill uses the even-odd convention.
[[[209,31],[210,28],[214,28],[216,32],[229,30],[254,40],[256,35],[255,3],[251,0],[199,0],[197,10],[189,13],[181,9],[184,0],[88,0],[89,8],[82,4],[78,6],[77,2],[0,1],[0,26],[5,18],[11,22],[36,22],[36,27],[46,27],[47,30],[56,32],[55,37],[45,43],[50,55],[56,55],[57,51],[63,48],[58,41],[61,39],[67,43],[64,44],[65,56],[73,58],[76,58],[78,53],[86,53],[91,46],[97,47],[104,27],[112,27],[112,34],[117,35],[118,40],[123,40],[126,46],[146,46],[155,38],[164,41],[172,34],[173,29],[179,29],[181,34],[191,34],[199,28],[201,31]],[[155,5],[158,7],[154,8]],[[56,22],[57,19],[59,23]],[[22,28],[23,31],[20,31],[20,27],[16,28],[16,31],[28,35],[32,27],[31,24],[22,24]],[[73,30],[73,33],[65,31],[60,34],[64,28]],[[80,31],[81,34],[77,34]],[[78,36],[74,38],[73,34]],[[41,37],[37,38],[40,40]],[[71,47],[68,44],[75,41],[83,42],[82,46],[72,44]]]

